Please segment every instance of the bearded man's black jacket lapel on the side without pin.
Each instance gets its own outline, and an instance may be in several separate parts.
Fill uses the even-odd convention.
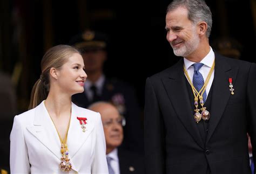
[[[197,123],[194,121],[193,109],[191,108],[190,98],[186,87],[186,78],[183,72],[183,59],[170,69],[169,78],[162,78],[162,82],[169,95],[170,101],[176,111],[179,120],[184,124],[188,133],[194,141],[204,148]]]

